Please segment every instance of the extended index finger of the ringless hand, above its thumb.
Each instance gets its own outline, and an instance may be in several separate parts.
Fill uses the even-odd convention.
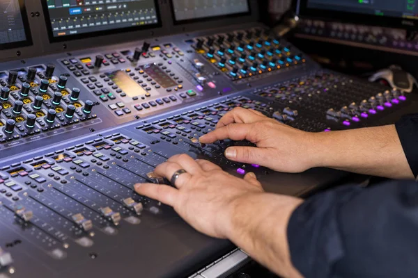
[[[256,124],[229,124],[227,126],[219,127],[214,131],[199,138],[200,142],[210,144],[217,140],[231,139],[231,140],[249,140],[250,142],[257,142]]]

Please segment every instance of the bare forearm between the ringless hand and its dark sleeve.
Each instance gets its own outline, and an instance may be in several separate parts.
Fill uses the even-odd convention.
[[[394,125],[318,133],[311,152],[315,167],[414,178]]]

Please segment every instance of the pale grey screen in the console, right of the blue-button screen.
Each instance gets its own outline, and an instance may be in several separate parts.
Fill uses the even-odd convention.
[[[173,0],[176,22],[249,13],[248,0]]]

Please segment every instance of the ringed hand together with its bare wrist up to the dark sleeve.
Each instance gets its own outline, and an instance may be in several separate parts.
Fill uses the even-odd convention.
[[[263,192],[254,174],[238,179],[208,161],[186,154],[169,158],[155,174],[176,180],[176,188],[135,185],[138,194],[173,206],[192,227],[208,236],[228,238],[281,277],[302,277],[291,263],[287,227],[301,199]]]

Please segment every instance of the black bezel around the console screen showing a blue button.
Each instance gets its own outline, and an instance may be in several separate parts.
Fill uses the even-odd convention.
[[[51,17],[49,16],[49,9],[47,6],[47,1],[42,0],[42,10],[45,17],[45,24],[47,26],[47,33],[50,43],[54,42],[67,42],[70,40],[80,40],[85,38],[93,38],[93,37],[100,37],[103,35],[114,35],[118,33],[128,33],[133,31],[143,31],[152,28],[160,28],[162,27],[162,19],[160,14],[160,6],[157,0],[154,0],[155,12],[157,13],[157,23],[156,24],[148,24],[148,25],[141,25],[141,26],[132,26],[132,27],[125,27],[125,28],[115,28],[110,30],[104,31],[95,31],[95,32],[88,32],[88,33],[79,33],[75,35],[64,35],[62,37],[54,37],[54,32],[52,31],[52,24],[51,24]]]

